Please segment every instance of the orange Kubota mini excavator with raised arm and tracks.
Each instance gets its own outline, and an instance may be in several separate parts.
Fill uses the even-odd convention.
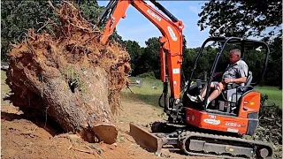
[[[184,25],[181,20],[167,11],[164,6],[155,0],[150,0],[157,9],[151,7],[142,0],[113,0],[105,7],[99,17],[98,27],[103,27],[101,42],[107,42],[121,18],[126,18],[126,10],[129,5],[140,11],[161,32],[159,38],[161,47],[161,80],[164,83],[159,105],[164,107],[168,116],[163,132],[152,129],[148,133],[141,127],[130,124],[130,134],[134,140],[149,151],[160,153],[164,145],[172,145],[180,148],[187,155],[203,155],[225,158],[272,158],[272,147],[268,143],[255,140],[241,139],[242,134],[253,135],[258,125],[258,113],[260,109],[260,93],[254,86],[264,77],[269,55],[269,47],[266,43],[242,39],[238,37],[210,37],[199,50],[195,59],[194,69],[187,80],[187,89],[181,98],[181,65]],[[138,32],[138,30],[137,30]],[[221,46],[216,55],[210,74],[207,79],[193,79],[198,60],[203,55],[203,49],[208,42],[218,42]],[[214,103],[218,107],[206,107],[207,94],[203,102],[193,102],[187,95],[199,95],[200,90],[207,84],[207,92],[210,92],[210,83],[219,63],[220,57],[227,45],[241,47],[244,58],[245,48],[262,47],[265,50],[264,67],[262,76],[257,77],[257,82],[252,82],[252,72],[245,86],[234,87],[228,84],[227,89]],[[166,67],[167,66],[167,67]],[[168,95],[168,83],[170,84],[170,96]],[[161,104],[161,99],[164,104]],[[217,108],[217,109],[215,109]],[[176,125],[176,126],[175,126]],[[174,129],[170,130],[171,127]],[[239,137],[240,136],[240,137]]]

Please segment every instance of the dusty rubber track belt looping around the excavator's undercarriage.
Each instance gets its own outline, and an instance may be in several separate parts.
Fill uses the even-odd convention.
[[[208,139],[216,139],[216,140],[234,140],[234,141],[241,141],[250,145],[261,145],[264,147],[268,147],[272,149],[271,145],[256,141],[256,140],[244,140],[241,138],[236,138],[236,137],[230,137],[230,136],[223,136],[223,135],[215,135],[215,134],[209,134],[209,133],[196,133],[196,132],[183,132],[180,133],[179,138],[178,138],[178,146],[179,148],[186,153],[187,155],[199,155],[199,156],[208,156],[208,157],[221,157],[221,158],[241,158],[239,156],[230,156],[230,155],[211,155],[211,154],[203,154],[203,153],[195,153],[195,152],[188,152],[185,146],[186,140],[190,137],[203,137],[203,138],[208,138]],[[267,156],[266,158],[272,158],[273,152],[271,156]],[[242,157],[243,158],[243,157]],[[256,157],[257,158],[257,157]]]

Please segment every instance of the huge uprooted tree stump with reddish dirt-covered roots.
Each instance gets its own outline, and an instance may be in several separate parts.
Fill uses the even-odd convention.
[[[72,4],[57,10],[57,35],[35,34],[8,54],[9,100],[25,114],[56,121],[85,140],[113,143],[112,124],[119,92],[127,84],[129,54],[115,42],[99,43],[101,33]]]

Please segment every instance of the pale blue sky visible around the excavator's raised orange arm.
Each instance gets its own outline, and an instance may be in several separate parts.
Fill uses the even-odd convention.
[[[106,6],[109,1],[97,1],[100,6]],[[187,48],[200,47],[209,37],[209,30],[200,31],[197,26],[198,13],[205,1],[157,1],[170,11],[177,19],[180,19],[185,28],[183,34],[187,41]],[[146,1],[147,4],[151,4]],[[159,11],[159,10],[158,10]],[[162,12],[162,11],[160,11]],[[145,18],[140,11],[130,5],[126,11],[126,19],[120,19],[116,27],[124,41],[132,40],[139,42],[145,47],[145,42],[151,37],[159,37],[162,34],[149,19]]]

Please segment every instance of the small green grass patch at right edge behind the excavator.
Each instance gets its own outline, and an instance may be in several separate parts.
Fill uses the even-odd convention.
[[[277,105],[282,107],[282,90],[278,87],[256,87],[262,95],[268,95],[268,100],[265,105]]]

